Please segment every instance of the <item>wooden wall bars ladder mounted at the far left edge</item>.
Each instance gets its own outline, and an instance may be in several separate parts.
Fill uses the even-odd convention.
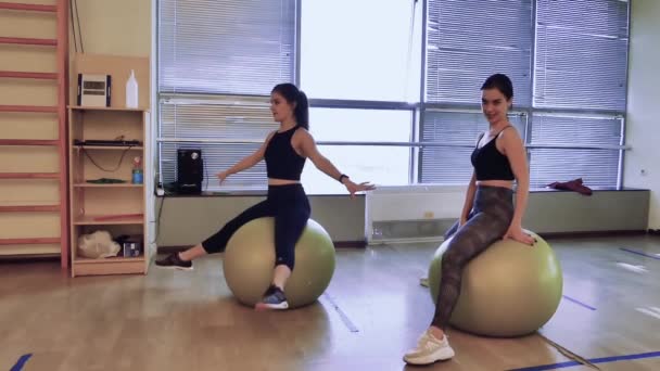
[[[68,1],[0,1],[0,13],[11,23],[0,35],[0,256],[59,255],[67,269]]]

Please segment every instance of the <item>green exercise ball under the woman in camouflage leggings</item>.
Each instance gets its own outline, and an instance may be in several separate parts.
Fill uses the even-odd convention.
[[[536,233],[533,246],[498,240],[465,267],[449,323],[462,331],[497,337],[521,336],[543,327],[559,306],[563,278],[550,245]],[[442,257],[453,238],[435,251],[429,287],[437,299]]]

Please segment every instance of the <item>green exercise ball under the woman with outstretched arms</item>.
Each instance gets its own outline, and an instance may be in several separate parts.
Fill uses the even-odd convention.
[[[236,298],[254,306],[272,281],[275,218],[254,219],[229,239],[223,261],[225,279]],[[314,303],[334,273],[334,245],[328,232],[308,219],[295,245],[295,265],[284,287],[289,308]]]

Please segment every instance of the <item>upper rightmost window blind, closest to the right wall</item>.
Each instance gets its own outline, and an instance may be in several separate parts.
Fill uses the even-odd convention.
[[[538,0],[534,106],[625,111],[629,2]]]

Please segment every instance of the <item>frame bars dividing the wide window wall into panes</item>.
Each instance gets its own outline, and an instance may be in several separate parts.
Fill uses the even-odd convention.
[[[416,0],[411,0],[417,2]],[[481,104],[479,102],[474,102],[472,103],[460,103],[460,104],[448,104],[448,103],[430,103],[427,102],[426,100],[426,89],[427,89],[427,78],[428,78],[428,59],[427,59],[427,54],[428,54],[428,31],[427,31],[427,27],[428,27],[428,11],[429,11],[429,4],[428,2],[431,0],[423,0],[421,1],[421,25],[417,25],[417,21],[416,21],[416,27],[421,27],[421,47],[416,50],[417,52],[420,52],[420,56],[419,56],[419,62],[420,62],[420,72],[419,72],[419,97],[417,98],[417,102],[403,102],[403,101],[368,101],[368,100],[341,100],[341,99],[314,99],[310,98],[309,99],[309,106],[310,107],[323,107],[323,108],[358,108],[358,110],[407,110],[410,111],[410,132],[411,132],[411,138],[409,140],[408,143],[408,148],[409,148],[409,161],[410,161],[410,174],[408,177],[408,184],[416,184],[416,183],[423,183],[422,182],[422,161],[421,161],[421,153],[420,153],[420,149],[423,149],[424,146],[427,146],[427,144],[429,145],[447,145],[447,146],[456,146],[456,144],[452,144],[452,143],[447,143],[447,144],[443,144],[443,143],[423,143],[420,142],[420,136],[423,132],[423,125],[424,125],[424,117],[428,114],[429,111],[434,111],[434,110],[444,110],[444,111],[455,111],[455,112],[471,112],[471,113],[480,113],[481,114]],[[437,1],[442,1],[442,0],[437,0]],[[537,41],[536,41],[536,33],[537,33],[537,20],[536,20],[536,15],[537,15],[537,1],[538,0],[532,0],[532,20],[531,20],[531,25],[530,25],[530,33],[531,33],[531,37],[533,39],[533,49],[532,49],[532,55],[531,55],[531,68],[530,68],[530,78],[529,78],[529,84],[530,84],[530,91],[532,93],[532,95],[534,94],[534,84],[535,84],[535,64],[536,64],[536,59],[537,59]],[[292,60],[293,60],[293,72],[292,72],[292,77],[293,77],[293,81],[294,84],[300,86],[300,80],[301,80],[301,16],[302,16],[302,12],[301,12],[301,7],[302,7],[302,0],[294,0],[295,2],[295,15],[294,15],[294,48],[293,48],[293,55],[292,55]],[[631,33],[631,4],[630,1],[625,1],[627,3],[627,50],[626,53],[630,54],[630,33]],[[156,1],[156,16],[160,14],[160,1]],[[416,18],[416,20],[419,20]],[[161,50],[161,44],[160,44],[160,20],[156,20],[156,27],[155,27],[155,54],[156,57],[160,55],[160,50]],[[249,94],[200,94],[200,93],[168,93],[168,92],[161,92],[158,90],[160,84],[158,84],[158,79],[160,79],[160,62],[155,63],[156,68],[154,72],[154,77],[155,77],[155,81],[154,85],[156,87],[156,92],[155,92],[155,106],[157,107],[155,110],[155,112],[153,113],[153,117],[155,120],[155,133],[156,133],[156,138],[155,138],[155,145],[156,145],[156,161],[157,164],[155,164],[157,166],[157,172],[158,172],[158,177],[160,177],[160,181],[162,182],[163,179],[163,154],[162,154],[162,143],[164,142],[168,142],[168,141],[177,141],[179,143],[186,143],[186,142],[191,142],[190,138],[163,138],[162,137],[162,126],[161,126],[161,115],[160,115],[160,105],[161,102],[163,100],[167,100],[167,99],[172,99],[174,95],[176,95],[178,99],[236,99],[236,100],[241,100],[241,99],[264,99],[265,101],[267,101],[268,97],[267,95],[249,95]],[[630,60],[626,57],[626,63],[625,63],[625,72],[626,72],[626,81],[629,80],[629,74],[630,74]],[[475,87],[478,88],[478,87]],[[629,87],[626,84],[625,87],[625,107],[627,106],[627,99],[629,99]],[[540,149],[540,148],[568,148],[568,149],[580,149],[583,148],[582,145],[567,145],[567,146],[557,146],[557,145],[543,145],[543,144],[531,144],[529,142],[530,138],[529,138],[529,131],[531,126],[534,124],[534,116],[535,114],[538,113],[544,113],[544,114],[592,114],[592,115],[597,115],[597,116],[617,116],[619,117],[622,123],[621,123],[621,136],[620,136],[620,143],[619,145],[600,145],[600,146],[594,146],[594,149],[606,149],[606,150],[618,150],[619,151],[619,167],[618,167],[618,179],[617,179],[617,189],[621,189],[623,186],[623,164],[624,164],[624,157],[625,157],[625,151],[630,149],[630,145],[626,144],[626,138],[625,138],[625,131],[626,131],[626,118],[627,118],[627,112],[626,108],[624,108],[623,111],[611,111],[611,110],[569,110],[569,108],[541,108],[541,107],[534,107],[534,102],[533,102],[533,97],[531,99],[531,104],[530,106],[520,106],[520,107],[516,107],[516,110],[511,111],[511,114],[521,114],[521,115],[525,115],[526,116],[526,125],[525,125],[525,130],[524,132],[521,132],[521,137],[523,138],[523,143],[525,145],[525,149],[528,151],[528,156],[530,156],[530,150],[533,149]],[[194,142],[194,141],[192,141]],[[208,141],[212,142],[212,141]],[[233,141],[232,143],[240,143],[241,141]],[[351,141],[342,141],[342,142],[323,142],[323,141],[318,141],[319,145],[350,145]],[[373,142],[373,143],[361,143],[360,145],[365,145],[365,146],[370,146],[370,145],[379,145],[379,143]],[[382,143],[380,143],[380,145],[382,145]],[[401,143],[401,145],[405,145],[405,143]],[[176,180],[176,179],[175,179]],[[375,181],[377,182],[377,180],[375,179]],[[467,184],[467,182],[466,182]],[[267,187],[266,184],[264,184],[263,189],[265,190]],[[236,190],[236,191],[240,191],[240,190]]]

